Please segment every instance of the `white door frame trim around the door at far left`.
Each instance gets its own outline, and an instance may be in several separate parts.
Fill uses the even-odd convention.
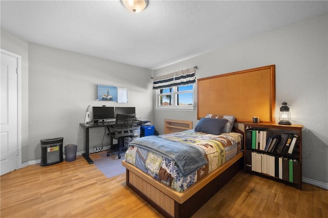
[[[17,169],[22,168],[22,56],[1,49],[1,53],[17,60]]]

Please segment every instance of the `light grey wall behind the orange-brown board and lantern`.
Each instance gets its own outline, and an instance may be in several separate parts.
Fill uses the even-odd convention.
[[[256,67],[276,66],[276,108],[286,101],[292,123],[304,125],[303,178],[328,183],[327,14],[301,21],[154,71],[154,76],[198,66],[197,78]],[[155,93],[155,92],[154,92]],[[247,91],[245,91],[247,94]],[[155,102],[155,98],[153,98]],[[198,122],[197,111],[155,111],[156,129],[163,119]]]

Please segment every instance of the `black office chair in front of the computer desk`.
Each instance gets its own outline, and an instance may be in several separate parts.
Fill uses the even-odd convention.
[[[134,120],[135,114],[116,114],[116,121],[114,126],[109,126],[108,135],[111,137],[111,148],[113,147],[113,139],[117,139],[118,159],[121,158],[120,152],[124,147],[124,138],[134,136]],[[107,157],[110,156],[110,152],[107,152]]]

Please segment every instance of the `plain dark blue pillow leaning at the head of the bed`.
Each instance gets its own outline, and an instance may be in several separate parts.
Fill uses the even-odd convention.
[[[220,135],[222,132],[222,128],[226,123],[226,119],[200,118],[199,122],[195,127],[195,131],[213,135]]]

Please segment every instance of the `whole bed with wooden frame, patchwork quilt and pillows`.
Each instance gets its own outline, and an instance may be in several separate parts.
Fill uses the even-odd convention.
[[[234,119],[208,114],[195,129],[132,141],[122,161],[127,186],[166,217],[190,217],[242,167],[243,133],[232,129]],[[178,147],[192,150],[187,163],[179,159]]]

